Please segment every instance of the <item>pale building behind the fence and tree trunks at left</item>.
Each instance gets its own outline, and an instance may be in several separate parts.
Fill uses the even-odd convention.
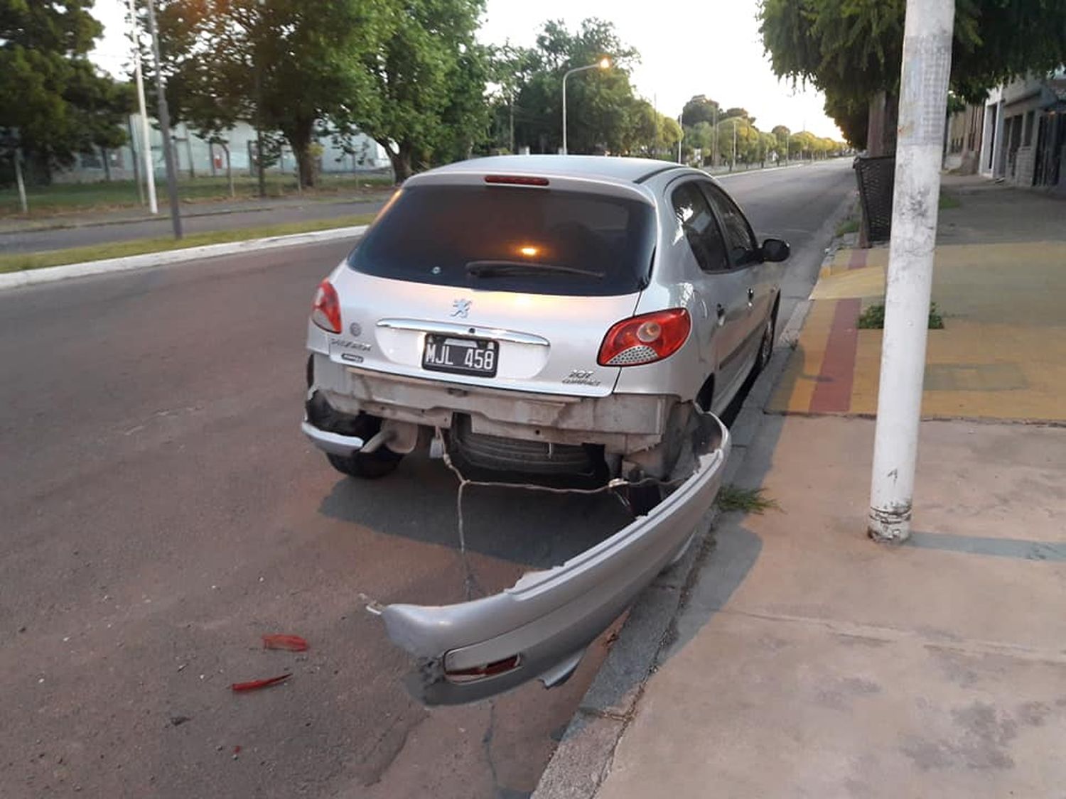
[[[157,177],[164,177],[166,165],[163,161],[163,137],[149,120],[148,144],[151,163]],[[56,172],[52,179],[60,183],[87,183],[98,180],[132,180],[144,165],[141,157],[144,142],[141,135],[141,116],[132,114],[128,120],[129,142],[116,149],[97,149],[81,153],[69,169]],[[174,142],[174,157],[178,172],[183,177],[205,175],[226,175],[226,161],[236,175],[251,175],[255,168],[256,131],[251,125],[240,123],[226,134],[227,146],[210,144],[193,133],[189,126],[178,124],[171,130]],[[371,173],[390,168],[385,149],[369,136],[357,133],[348,142],[348,152],[332,138],[321,138],[323,151],[319,157],[319,172],[323,174]],[[228,150],[228,152],[227,152]],[[134,158],[136,164],[134,165]],[[281,147],[277,163],[268,168],[270,174],[291,174],[295,176],[296,159],[292,149]]]

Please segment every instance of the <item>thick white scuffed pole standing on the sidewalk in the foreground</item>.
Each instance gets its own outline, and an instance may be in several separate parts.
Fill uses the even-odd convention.
[[[910,535],[954,0],[907,0],[868,529]]]

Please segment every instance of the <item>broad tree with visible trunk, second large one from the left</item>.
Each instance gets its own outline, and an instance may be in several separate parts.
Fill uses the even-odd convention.
[[[313,185],[319,126],[348,125],[371,91],[359,60],[389,35],[397,14],[385,4],[168,0],[159,32],[173,119],[188,120],[209,141],[237,119],[280,131],[302,184]]]

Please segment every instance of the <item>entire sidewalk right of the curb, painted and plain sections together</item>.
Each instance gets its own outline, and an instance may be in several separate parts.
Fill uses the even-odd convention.
[[[841,251],[734,478],[779,509],[720,520],[602,776],[549,768],[538,799],[1063,795],[1066,203],[960,199],[908,544],[866,537],[879,331],[855,319],[887,250]]]

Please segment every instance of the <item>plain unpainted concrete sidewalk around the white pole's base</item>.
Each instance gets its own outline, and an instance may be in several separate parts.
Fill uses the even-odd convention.
[[[1051,797],[1066,785],[1066,429],[928,422],[865,536],[873,422],[770,417],[598,799]]]

